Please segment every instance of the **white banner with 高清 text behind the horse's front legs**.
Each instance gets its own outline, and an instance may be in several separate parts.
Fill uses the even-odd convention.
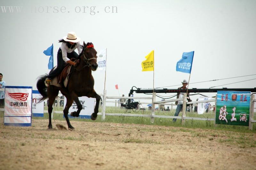
[[[84,118],[84,119],[91,119],[91,114],[94,112],[94,99],[95,98],[88,98],[86,96],[83,97],[78,97],[79,102],[82,104],[82,110],[79,114],[78,118]],[[64,97],[64,107],[65,108],[67,103],[67,98]],[[75,101],[73,102],[73,104],[71,105],[71,107],[68,110],[68,117],[69,118],[76,118],[76,117],[71,117],[70,113],[77,111],[77,105],[75,103]],[[64,115],[63,115],[64,118]]]

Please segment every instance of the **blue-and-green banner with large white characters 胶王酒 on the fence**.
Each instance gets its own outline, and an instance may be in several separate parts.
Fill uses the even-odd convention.
[[[216,124],[249,126],[250,91],[218,91]]]

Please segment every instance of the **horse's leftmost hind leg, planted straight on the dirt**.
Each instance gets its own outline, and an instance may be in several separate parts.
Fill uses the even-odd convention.
[[[52,86],[48,87],[48,114],[49,114],[49,124],[48,128],[52,129],[52,105],[55,101],[55,97],[58,96],[59,90],[54,90]]]

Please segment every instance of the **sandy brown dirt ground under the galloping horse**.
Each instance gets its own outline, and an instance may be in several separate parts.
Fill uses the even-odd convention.
[[[4,126],[0,169],[256,169],[256,148],[220,143],[220,131],[164,126],[32,120]],[[236,135],[236,132],[228,132]],[[256,134],[250,133],[256,140]]]

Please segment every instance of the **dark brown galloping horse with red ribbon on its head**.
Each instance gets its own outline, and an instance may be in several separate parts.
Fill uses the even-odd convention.
[[[80,55],[78,56],[79,62],[76,66],[72,66],[71,73],[69,74],[68,85],[65,88],[62,83],[62,87],[50,85],[48,88],[45,87],[44,80],[47,74],[39,76],[36,87],[39,93],[42,95],[39,102],[49,98],[48,113],[49,113],[49,125],[48,128],[52,129],[52,104],[54,103],[55,97],[58,96],[59,91],[67,98],[67,104],[63,110],[64,117],[68,123],[68,128],[74,129],[71,126],[68,119],[68,110],[72,103],[75,101],[77,105],[77,111],[71,112],[70,115],[78,117],[82,110],[82,104],[79,102],[78,97],[87,96],[96,98],[96,105],[94,112],[91,115],[92,120],[96,120],[97,113],[99,112],[100,96],[93,89],[94,79],[92,77],[92,71],[95,71],[98,67],[97,64],[97,51],[94,49],[92,43],[84,43],[84,47]]]

